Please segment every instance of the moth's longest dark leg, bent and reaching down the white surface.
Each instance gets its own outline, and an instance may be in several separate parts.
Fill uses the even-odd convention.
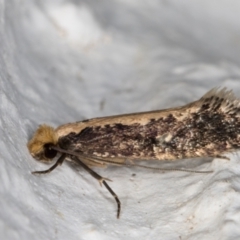
[[[79,158],[77,157],[73,157],[72,158],[76,163],[78,163],[81,167],[83,167],[88,173],[90,173],[95,179],[97,179],[101,184],[103,184],[106,189],[111,193],[111,195],[115,198],[115,201],[117,203],[117,218],[119,218],[120,216],[120,212],[121,212],[121,202],[117,196],[117,194],[109,187],[109,185],[106,183],[107,180],[110,180],[108,178],[104,178],[102,176],[100,176],[99,174],[97,174],[96,172],[94,172],[91,168],[89,168],[85,163],[83,163]],[[111,180],[110,180],[111,181]]]

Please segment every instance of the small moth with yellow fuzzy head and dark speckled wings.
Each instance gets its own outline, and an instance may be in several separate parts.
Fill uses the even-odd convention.
[[[240,148],[240,100],[232,91],[212,89],[198,101],[159,111],[94,118],[54,129],[41,125],[28,142],[30,154],[41,162],[64,160],[79,164],[103,184],[117,203],[114,191],[91,167],[139,166],[137,160],[177,160],[217,157]],[[197,171],[195,171],[197,172]]]

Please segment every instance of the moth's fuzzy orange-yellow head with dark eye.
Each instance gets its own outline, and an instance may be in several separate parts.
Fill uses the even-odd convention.
[[[52,146],[57,146],[58,135],[54,128],[48,125],[40,125],[27,147],[30,154],[38,161],[50,162],[57,155]]]

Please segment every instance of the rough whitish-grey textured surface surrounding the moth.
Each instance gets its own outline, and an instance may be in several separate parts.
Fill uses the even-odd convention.
[[[181,162],[207,175],[95,169],[113,180],[117,220],[95,179],[67,164],[33,176],[49,166],[26,148],[41,123],[178,106],[215,86],[240,97],[239,14],[237,0],[0,0],[0,238],[240,239],[238,154]]]

